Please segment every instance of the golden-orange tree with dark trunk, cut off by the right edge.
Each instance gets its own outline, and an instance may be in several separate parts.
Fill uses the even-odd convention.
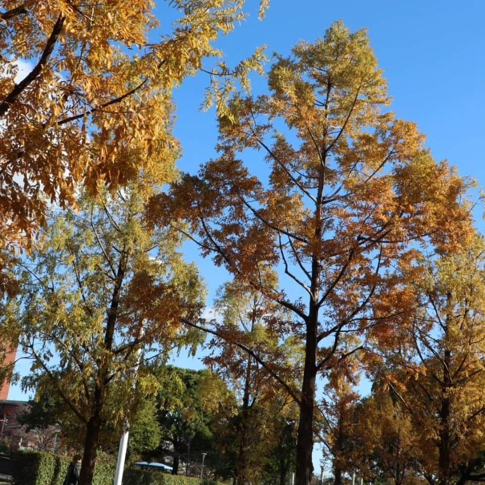
[[[484,249],[476,235],[460,252],[423,260],[412,324],[383,372],[419,430],[416,456],[432,484],[485,478]]]

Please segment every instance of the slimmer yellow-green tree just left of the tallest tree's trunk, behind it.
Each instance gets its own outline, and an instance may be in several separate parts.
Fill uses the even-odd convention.
[[[268,284],[277,283],[274,271],[261,271]],[[215,446],[224,457],[220,472],[233,477],[234,483],[284,482],[294,455],[295,401],[292,393],[274,385],[271,369],[260,361],[264,356],[275,367],[284,362],[290,367],[295,349],[279,338],[290,315],[237,280],[219,288],[214,312],[217,318],[206,320],[203,327],[196,325],[212,336],[204,363],[224,379],[237,399],[227,425],[215,427]],[[291,382],[289,370],[286,377]],[[293,389],[296,394],[295,383]]]

